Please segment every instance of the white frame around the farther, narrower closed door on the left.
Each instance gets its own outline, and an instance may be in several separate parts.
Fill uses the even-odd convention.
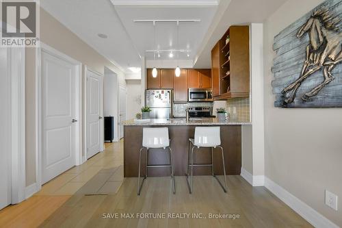
[[[102,77],[102,84],[101,84],[101,114],[100,116],[102,116],[102,121],[101,121],[101,130],[100,130],[100,141],[103,142],[101,143],[101,152],[103,152],[105,150],[105,136],[104,136],[104,123],[105,123],[105,117],[103,116],[103,83],[105,81],[105,76],[101,73],[98,73],[97,71],[92,70],[91,68],[89,68],[87,65],[84,66],[84,85],[83,85],[83,90],[84,90],[84,102],[83,102],[83,116],[84,116],[84,120],[83,120],[83,147],[84,147],[84,156],[82,157],[83,161],[86,162],[86,160],[88,160],[87,157],[87,153],[88,153],[88,147],[87,147],[87,81],[88,81],[88,75],[87,72],[90,71],[92,73],[94,73],[95,75],[98,75],[100,77]]]

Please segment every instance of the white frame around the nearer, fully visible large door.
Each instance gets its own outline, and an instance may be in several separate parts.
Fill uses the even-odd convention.
[[[78,166],[82,164],[82,160],[80,159],[80,155],[82,154],[82,142],[81,142],[81,132],[82,132],[82,88],[81,88],[81,79],[82,79],[82,64],[81,62],[70,58],[70,56],[57,51],[53,47],[44,44],[43,42],[39,42],[39,46],[36,48],[36,183],[37,183],[37,191],[39,191],[42,187],[42,73],[41,73],[41,64],[42,64],[42,51],[45,53],[49,53],[50,55],[55,56],[56,58],[60,58],[67,62],[71,62],[76,66],[76,75],[78,79],[76,80],[76,101],[75,106],[78,107],[76,109],[75,118],[78,120],[76,123],[78,126],[78,131],[76,131],[76,140],[79,142],[76,146],[75,154],[75,165]]]

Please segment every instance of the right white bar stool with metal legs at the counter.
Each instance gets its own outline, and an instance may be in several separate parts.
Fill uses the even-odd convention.
[[[193,189],[193,169],[194,166],[211,166],[211,174],[215,179],[218,180],[220,186],[223,188],[224,192],[227,192],[227,181],[226,181],[226,167],[224,166],[224,154],[223,148],[221,147],[220,138],[220,127],[196,127],[195,137],[189,138],[189,153],[187,156],[187,185],[189,186],[189,192],[192,194]],[[211,164],[194,164],[194,149],[200,147],[211,147]],[[223,162],[223,173],[224,173],[224,186],[221,181],[213,173],[213,148],[220,148],[222,152],[222,162]],[[191,164],[190,164],[191,162]],[[189,183],[189,167],[191,166],[191,183]]]

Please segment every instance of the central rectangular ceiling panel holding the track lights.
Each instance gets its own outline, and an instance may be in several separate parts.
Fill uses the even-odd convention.
[[[161,7],[161,6],[121,6],[116,5],[116,12],[121,18],[122,24],[131,37],[133,44],[140,55],[146,60],[153,59],[153,52],[147,53],[146,50],[179,50],[185,49],[187,53],[176,53],[174,59],[179,56],[181,60],[193,60],[198,46],[202,42],[211,20],[215,14],[216,6],[205,7]],[[195,23],[179,23],[177,39],[177,23],[155,23],[152,22],[136,23],[135,20],[180,20],[180,19],[199,19]],[[154,30],[155,29],[155,30]],[[154,35],[155,32],[155,35]],[[154,44],[154,40],[156,40]],[[160,53],[160,58],[169,60],[169,52]]]

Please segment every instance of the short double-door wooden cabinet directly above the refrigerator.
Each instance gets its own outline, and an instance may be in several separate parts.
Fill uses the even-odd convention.
[[[147,88],[173,88],[174,70],[157,69],[157,77],[152,76],[152,69],[147,69]]]

